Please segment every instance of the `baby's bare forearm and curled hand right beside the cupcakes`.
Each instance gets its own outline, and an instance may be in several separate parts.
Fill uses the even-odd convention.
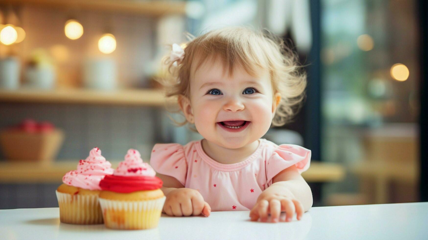
[[[166,196],[163,213],[169,216],[198,216],[201,213],[209,216],[211,207],[195,189],[184,188],[175,177],[157,174],[162,179],[161,188]]]

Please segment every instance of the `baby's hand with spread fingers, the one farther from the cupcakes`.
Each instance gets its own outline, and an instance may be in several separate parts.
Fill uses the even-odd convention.
[[[285,212],[285,222],[291,222],[294,213],[297,220],[303,215],[303,205],[296,199],[294,194],[286,187],[272,184],[257,198],[256,205],[250,211],[251,221],[268,221],[268,214],[272,222],[279,222],[279,215]]]

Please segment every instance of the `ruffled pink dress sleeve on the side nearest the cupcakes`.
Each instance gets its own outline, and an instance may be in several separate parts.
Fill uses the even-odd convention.
[[[180,144],[155,144],[150,156],[150,165],[159,174],[175,177],[186,185],[187,162]]]

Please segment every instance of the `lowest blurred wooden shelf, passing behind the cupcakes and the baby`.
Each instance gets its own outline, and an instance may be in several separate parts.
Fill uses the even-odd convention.
[[[119,160],[110,161],[113,168]],[[49,164],[38,162],[0,162],[0,183],[61,183],[62,176],[76,169],[77,161],[56,161]],[[343,179],[345,171],[341,165],[312,162],[302,173],[308,182],[336,182]]]

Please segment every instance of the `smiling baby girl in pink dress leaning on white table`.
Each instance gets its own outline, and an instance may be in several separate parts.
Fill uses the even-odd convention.
[[[261,139],[270,126],[295,114],[306,87],[292,51],[268,33],[245,27],[213,30],[183,49],[172,46],[165,62],[171,78],[159,80],[177,96],[186,119],[203,139],[156,144],[150,164],[163,180],[163,212],[209,216],[211,211],[251,210],[262,222],[301,219],[312,193],[300,173],[311,151]]]

